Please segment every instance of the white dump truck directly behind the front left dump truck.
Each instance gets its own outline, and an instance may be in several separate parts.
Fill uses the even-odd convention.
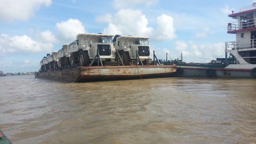
[[[57,51],[57,58],[58,58],[58,65],[59,67],[66,67],[68,65],[70,65],[70,53],[67,51],[68,49],[68,44],[63,44],[62,45],[62,49],[60,49],[59,51]]]

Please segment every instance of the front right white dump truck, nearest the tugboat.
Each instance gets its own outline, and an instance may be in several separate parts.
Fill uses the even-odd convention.
[[[149,65],[151,59],[149,37],[115,35],[113,44],[124,65],[136,61],[136,50],[143,65]]]

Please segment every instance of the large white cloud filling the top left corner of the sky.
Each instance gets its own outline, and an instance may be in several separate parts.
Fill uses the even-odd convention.
[[[0,0],[0,20],[12,22],[26,21],[41,5],[50,6],[52,0]]]

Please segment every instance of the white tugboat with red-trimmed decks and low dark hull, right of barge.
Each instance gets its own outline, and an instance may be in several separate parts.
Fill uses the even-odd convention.
[[[228,15],[236,22],[228,23],[227,33],[236,34],[236,41],[225,42],[225,58],[209,64],[177,64],[178,77],[256,77],[256,2]],[[228,56],[229,53],[229,56]],[[166,56],[167,61],[167,56]]]

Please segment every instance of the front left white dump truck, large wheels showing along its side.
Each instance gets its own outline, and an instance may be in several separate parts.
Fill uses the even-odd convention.
[[[89,66],[97,55],[97,49],[102,63],[114,61],[113,36],[101,33],[78,34],[76,40],[69,44],[67,48],[67,52],[70,53],[70,65]]]

